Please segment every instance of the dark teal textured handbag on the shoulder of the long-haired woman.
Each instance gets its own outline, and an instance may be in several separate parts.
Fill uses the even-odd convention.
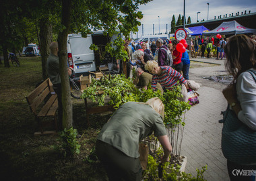
[[[256,71],[247,70],[256,81]],[[253,73],[254,72],[254,73]],[[238,164],[256,164],[256,131],[242,123],[229,109],[222,112],[222,152],[224,157]]]

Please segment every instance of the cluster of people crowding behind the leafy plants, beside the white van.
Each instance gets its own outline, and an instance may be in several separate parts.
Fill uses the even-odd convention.
[[[127,68],[127,70],[131,70],[133,67],[136,68],[137,83],[141,74],[144,76],[147,75],[150,79],[147,80],[147,82],[152,83],[152,88],[156,88],[156,83],[161,84],[162,88],[158,89],[162,92],[162,90],[172,89],[173,86],[177,84],[178,80],[182,79],[180,84],[183,84],[189,79],[189,54],[187,51],[181,53],[177,50],[176,46],[179,44],[179,40],[162,40],[158,38],[156,42],[139,41],[136,45],[135,42],[131,42],[131,40],[125,40],[125,42],[125,45],[129,44],[128,47],[131,48],[131,51],[129,51],[129,61],[127,61],[129,62],[127,66],[130,68]],[[168,84],[168,86],[166,86],[167,84],[163,84],[160,80],[154,80],[156,76],[154,71],[151,70],[152,68],[150,68],[152,62],[154,62],[154,66],[158,66],[160,68],[159,70],[168,72],[167,74],[170,79],[168,81],[171,81],[172,84]],[[162,71],[160,71],[160,73],[162,74]],[[165,76],[167,76],[167,74]],[[144,84],[141,87],[146,88]]]

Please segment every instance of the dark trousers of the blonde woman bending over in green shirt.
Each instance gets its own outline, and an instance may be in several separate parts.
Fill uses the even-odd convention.
[[[96,141],[96,155],[106,173],[109,181],[140,181],[142,168],[139,158],[125,155],[119,149],[103,141]]]

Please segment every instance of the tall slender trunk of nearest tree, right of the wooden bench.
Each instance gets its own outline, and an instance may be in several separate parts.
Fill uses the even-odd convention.
[[[69,129],[73,124],[73,110],[70,96],[70,84],[67,74],[67,34],[71,23],[71,0],[62,0],[62,20],[66,27],[58,35],[59,66],[61,71],[61,89],[63,105],[63,128]]]

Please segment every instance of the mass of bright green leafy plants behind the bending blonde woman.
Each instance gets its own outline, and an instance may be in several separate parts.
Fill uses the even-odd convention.
[[[181,115],[185,110],[190,109],[189,103],[179,101],[177,97],[181,97],[181,86],[175,86],[172,91],[166,91],[163,95],[160,91],[153,91],[151,86],[147,90],[136,88],[132,80],[125,78],[122,75],[104,76],[100,80],[92,80],[82,94],[82,98],[88,98],[94,102],[98,101],[98,105],[104,105],[105,97],[110,97],[108,104],[114,105],[118,109],[123,103],[146,102],[152,97],[159,97],[164,103],[164,123],[168,127],[174,125],[185,125]],[[170,126],[171,125],[171,126]]]

